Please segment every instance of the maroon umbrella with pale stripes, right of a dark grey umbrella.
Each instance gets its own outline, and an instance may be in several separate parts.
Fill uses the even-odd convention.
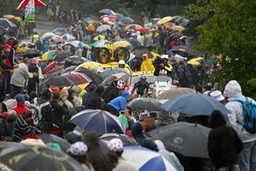
[[[70,73],[62,74],[62,76],[65,78],[69,78],[72,82],[75,83],[75,85],[82,85],[82,84],[92,81],[85,74],[74,72],[74,71],[72,71]]]

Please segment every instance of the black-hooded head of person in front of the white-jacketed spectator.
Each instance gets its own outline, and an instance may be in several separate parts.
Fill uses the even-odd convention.
[[[218,128],[220,126],[226,125],[225,117],[219,110],[214,110],[209,117],[209,126],[210,128]]]

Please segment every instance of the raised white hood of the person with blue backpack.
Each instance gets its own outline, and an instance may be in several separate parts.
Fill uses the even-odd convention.
[[[239,85],[237,81],[231,80],[229,83],[226,84],[224,96],[228,98],[242,97],[241,85]]]

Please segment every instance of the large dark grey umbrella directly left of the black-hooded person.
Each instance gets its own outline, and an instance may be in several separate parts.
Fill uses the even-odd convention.
[[[177,122],[150,131],[154,140],[161,140],[166,149],[186,157],[208,158],[207,141],[210,128],[205,126]]]

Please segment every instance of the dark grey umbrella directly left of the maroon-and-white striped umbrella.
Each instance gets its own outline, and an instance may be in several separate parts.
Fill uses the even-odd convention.
[[[59,87],[75,85],[72,80],[61,75],[48,78],[43,84]]]

